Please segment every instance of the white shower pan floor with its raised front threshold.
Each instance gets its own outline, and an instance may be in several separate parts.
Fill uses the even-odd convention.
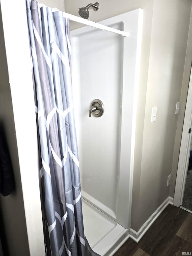
[[[82,198],[85,236],[89,245],[101,256],[113,255],[129,237],[129,230]]]

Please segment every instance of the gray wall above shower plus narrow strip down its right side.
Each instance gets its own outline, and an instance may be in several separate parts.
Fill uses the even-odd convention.
[[[149,70],[149,55],[152,33],[152,17],[153,17],[153,3],[154,0],[122,0],[120,5],[117,5],[115,0],[105,0],[100,3],[100,9],[97,12],[91,12],[90,20],[99,22],[100,20],[122,14],[137,8],[143,9],[143,33],[142,33],[142,47],[140,60],[140,79],[137,101],[137,126],[135,138],[135,161],[134,161],[134,177],[133,177],[133,198],[132,198],[132,216],[131,227],[139,230],[141,225],[139,221],[140,211],[140,175],[141,175],[141,157],[143,145],[143,128],[145,117],[145,103],[146,103],[146,88],[148,81]],[[78,16],[78,8],[85,6],[85,0],[65,0],[65,11]],[[79,28],[82,24],[70,22],[70,29]],[[158,201],[158,200],[157,200]],[[161,204],[161,202],[158,202]],[[144,222],[143,222],[144,223]],[[138,227],[138,229],[137,229]]]

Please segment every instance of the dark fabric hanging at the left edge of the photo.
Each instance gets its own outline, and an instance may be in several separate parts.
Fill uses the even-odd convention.
[[[13,168],[4,133],[0,131],[0,193],[5,197],[14,189]]]

